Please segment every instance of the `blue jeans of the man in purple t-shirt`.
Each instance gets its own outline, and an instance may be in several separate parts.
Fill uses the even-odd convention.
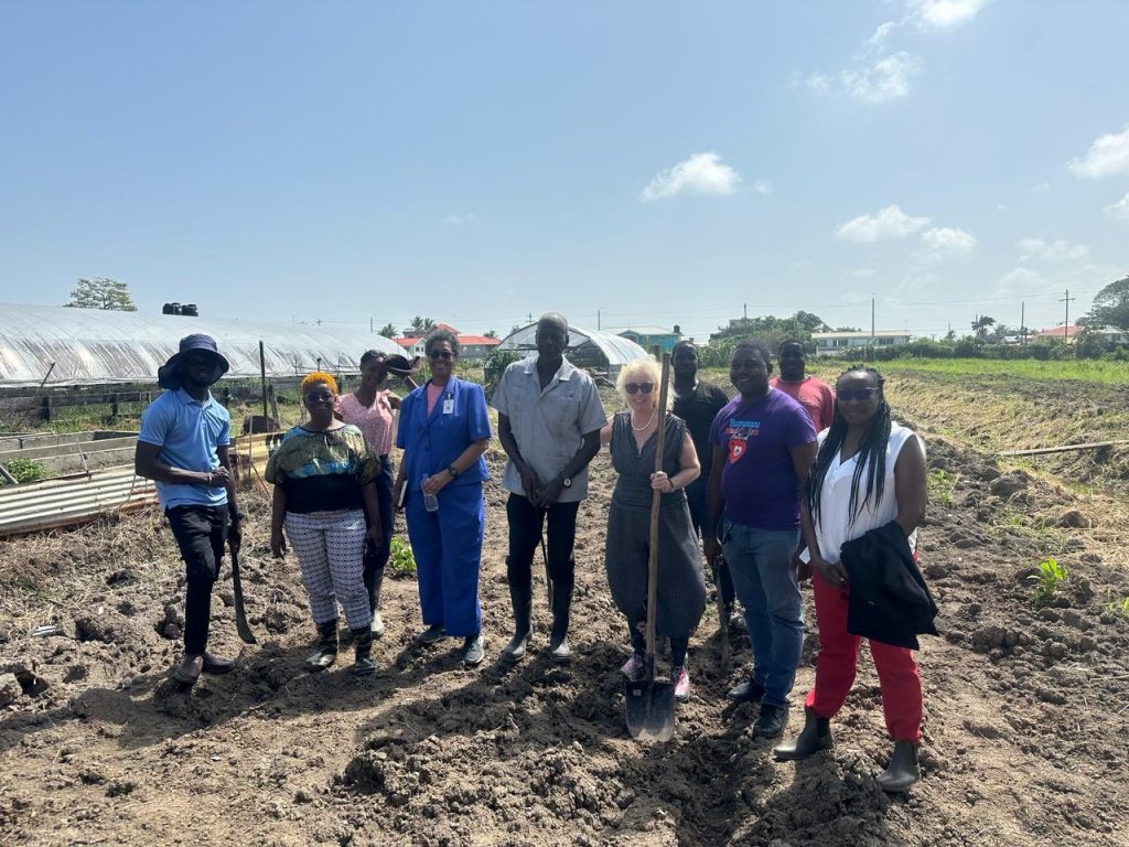
[[[804,608],[791,556],[799,530],[756,530],[721,523],[721,543],[753,643],[753,681],[761,700],[787,706],[804,648]]]

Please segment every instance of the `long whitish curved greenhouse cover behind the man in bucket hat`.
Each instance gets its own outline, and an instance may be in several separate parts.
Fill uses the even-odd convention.
[[[0,383],[38,385],[51,363],[49,385],[155,381],[157,368],[193,332],[216,339],[231,363],[228,376],[259,376],[260,340],[268,376],[307,373],[318,358],[323,368],[356,370],[365,350],[402,352],[390,339],[361,330],[0,304]]]

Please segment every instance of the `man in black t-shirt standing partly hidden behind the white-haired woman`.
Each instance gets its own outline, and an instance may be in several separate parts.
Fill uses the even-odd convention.
[[[714,461],[714,447],[709,439],[709,429],[714,418],[729,402],[728,394],[717,385],[698,381],[698,348],[692,341],[680,341],[671,355],[671,369],[674,372],[674,408],[673,412],[686,422],[690,439],[698,452],[701,463],[701,475],[686,486],[686,501],[690,504],[690,522],[694,532],[702,535],[706,523],[706,492],[709,491],[710,466]],[[716,529],[716,527],[715,527]],[[732,623],[744,625],[741,615],[734,614],[733,603],[736,592],[733,578],[725,559],[718,557],[714,565],[714,583],[721,592],[721,601]]]

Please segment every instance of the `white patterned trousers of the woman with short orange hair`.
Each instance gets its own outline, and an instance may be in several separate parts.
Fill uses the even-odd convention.
[[[338,601],[349,629],[373,625],[368,590],[361,578],[365,513],[360,509],[286,515],[286,534],[298,555],[314,623],[336,620]]]

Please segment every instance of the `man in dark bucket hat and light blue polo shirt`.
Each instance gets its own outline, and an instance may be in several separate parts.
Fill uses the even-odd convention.
[[[228,368],[210,337],[181,339],[180,350],[157,370],[165,392],[141,416],[134,456],[138,475],[157,483],[184,559],[184,660],[173,679],[186,686],[201,671],[227,673],[235,664],[208,652],[212,585],[224,544],[230,535],[238,547],[243,522],[227,455],[231,418],[209,391]]]

